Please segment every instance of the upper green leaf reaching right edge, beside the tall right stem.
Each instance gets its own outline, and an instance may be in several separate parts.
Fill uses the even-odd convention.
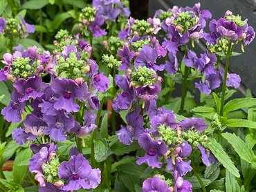
[[[228,113],[230,111],[235,111],[239,108],[250,107],[255,105],[256,105],[256,98],[232,99],[223,107],[223,112]]]

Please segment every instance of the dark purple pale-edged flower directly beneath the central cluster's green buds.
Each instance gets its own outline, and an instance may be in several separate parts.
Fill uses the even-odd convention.
[[[136,88],[136,95],[144,100],[157,99],[158,94],[161,92],[161,87],[158,83],[152,84],[152,86],[138,86]]]

